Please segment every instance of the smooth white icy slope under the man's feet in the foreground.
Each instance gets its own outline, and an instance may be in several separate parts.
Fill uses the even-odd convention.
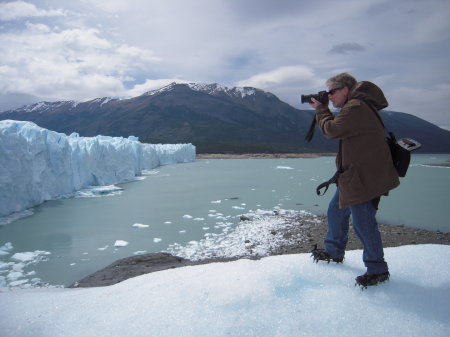
[[[360,250],[166,270],[102,288],[0,293],[11,336],[450,336],[450,246],[385,249],[391,280],[361,291]]]

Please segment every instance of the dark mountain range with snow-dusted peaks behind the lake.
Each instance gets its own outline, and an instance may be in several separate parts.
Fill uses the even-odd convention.
[[[0,112],[0,120],[27,120],[80,136],[139,137],[148,143],[192,143],[197,153],[334,152],[337,142],[316,129],[305,135],[312,110],[299,110],[251,87],[172,83],[129,99],[40,102]],[[450,131],[410,114],[381,111],[397,138],[422,143],[421,152],[450,153]]]

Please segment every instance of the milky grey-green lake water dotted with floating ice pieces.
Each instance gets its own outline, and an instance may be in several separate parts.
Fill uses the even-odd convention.
[[[450,168],[422,165],[448,158],[413,156],[400,187],[382,198],[379,222],[450,232]],[[9,284],[15,268],[23,274],[19,280],[69,285],[119,258],[230,231],[241,214],[257,209],[324,214],[335,187],[325,196],[315,188],[334,170],[334,157],[197,160],[120,184],[118,195],[49,201],[0,226],[0,247],[13,246],[0,256],[0,277]],[[115,246],[117,240],[128,244]],[[14,253],[36,251],[50,254],[22,266],[11,260]]]

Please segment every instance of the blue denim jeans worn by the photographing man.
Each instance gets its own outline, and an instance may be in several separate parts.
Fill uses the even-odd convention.
[[[340,209],[338,188],[328,206],[328,233],[325,238],[327,253],[334,258],[344,256],[351,214],[353,228],[364,246],[363,261],[367,271],[373,274],[387,272],[376,212],[371,201]]]

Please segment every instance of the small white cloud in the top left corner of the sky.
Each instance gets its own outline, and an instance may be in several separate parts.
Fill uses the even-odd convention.
[[[57,10],[42,10],[36,8],[35,5],[24,2],[4,2],[0,3],[0,21],[12,21],[27,17],[44,17],[44,16],[64,16],[65,11]]]

